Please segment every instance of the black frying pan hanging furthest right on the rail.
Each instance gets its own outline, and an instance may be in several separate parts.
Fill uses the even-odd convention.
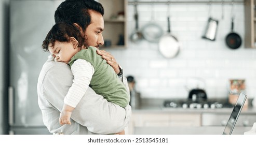
[[[242,39],[241,37],[235,33],[233,31],[234,29],[234,13],[233,13],[233,1],[232,1],[232,10],[231,10],[231,13],[232,13],[232,18],[231,18],[231,32],[226,36],[226,45],[231,48],[231,49],[237,49],[241,46],[242,44]]]

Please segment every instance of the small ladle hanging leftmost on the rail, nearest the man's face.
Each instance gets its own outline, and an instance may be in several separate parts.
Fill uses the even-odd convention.
[[[143,39],[143,34],[139,31],[139,15],[138,15],[138,10],[137,10],[137,4],[134,4],[134,19],[135,19],[135,32],[131,34],[131,41],[138,43]]]

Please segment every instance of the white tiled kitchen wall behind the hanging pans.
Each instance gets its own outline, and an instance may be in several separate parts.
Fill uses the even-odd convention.
[[[232,50],[225,45],[225,37],[231,31],[231,5],[173,4],[170,7],[171,33],[181,43],[177,57],[166,59],[158,51],[157,43],[129,41],[127,49],[107,50],[125,70],[132,75],[137,90],[143,98],[186,98],[186,85],[195,81],[206,89],[208,98],[224,98],[228,93],[229,79],[245,79],[249,98],[256,95],[256,49],[244,47],[244,5],[234,5],[234,31],[242,37],[242,46]],[[139,27],[151,21],[151,5],[138,5]],[[167,5],[155,5],[154,21],[167,32]],[[128,35],[134,31],[133,5],[128,5]],[[209,15],[219,20],[217,39],[202,39]]]

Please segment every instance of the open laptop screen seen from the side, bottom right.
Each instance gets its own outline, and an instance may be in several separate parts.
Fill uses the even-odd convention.
[[[228,121],[227,121],[223,135],[231,135],[232,134],[233,129],[236,124],[236,121],[237,121],[237,119],[240,115],[240,112],[242,110],[242,107],[244,107],[246,98],[247,98],[247,95],[245,95],[244,93],[241,92],[239,94],[236,104],[235,104],[233,111],[230,115],[230,119],[228,119]]]

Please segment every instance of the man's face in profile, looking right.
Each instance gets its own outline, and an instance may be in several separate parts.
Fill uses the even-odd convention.
[[[99,49],[101,45],[104,45],[104,39],[102,36],[104,20],[99,12],[93,10],[89,10],[89,12],[91,15],[91,24],[86,28],[86,44],[87,47],[94,46]]]

